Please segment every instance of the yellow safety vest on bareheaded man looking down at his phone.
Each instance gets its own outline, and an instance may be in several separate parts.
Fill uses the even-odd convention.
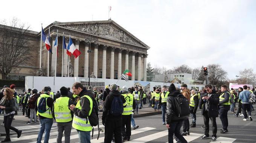
[[[91,115],[91,111],[93,109],[93,100],[91,100],[91,97],[89,97],[88,95],[84,95],[82,98],[88,98],[88,100],[90,101],[90,111],[89,111],[89,115]],[[81,105],[80,105],[80,100],[77,102],[76,104],[76,108],[78,108],[79,110],[81,110]],[[73,123],[72,123],[72,127],[75,128],[76,130],[80,130],[80,131],[91,131],[92,127],[90,124],[90,121],[87,118],[80,118],[78,116],[76,116],[74,114],[74,118],[73,118]]]

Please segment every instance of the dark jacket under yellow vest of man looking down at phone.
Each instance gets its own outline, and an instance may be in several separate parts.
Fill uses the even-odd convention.
[[[82,98],[84,95],[89,95],[91,97],[94,97],[94,94],[91,90],[87,90],[87,89],[83,89],[80,94],[80,106],[81,106],[81,110],[78,108],[74,109],[74,115],[80,117],[80,118],[87,118],[89,116],[89,112],[90,112],[90,101],[88,98],[84,97]],[[69,95],[68,95],[69,96]]]

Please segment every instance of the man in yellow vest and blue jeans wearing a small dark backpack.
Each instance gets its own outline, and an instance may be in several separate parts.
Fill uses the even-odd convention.
[[[37,137],[37,143],[41,143],[43,133],[44,134],[44,142],[47,143],[50,137],[50,131],[52,128],[53,117],[52,117],[52,105],[53,99],[50,98],[50,88],[49,86],[44,87],[44,93],[40,95],[37,99],[37,116],[40,119],[40,131]],[[45,101],[45,102],[44,102]],[[40,104],[46,103],[46,104]],[[43,106],[44,105],[44,106]],[[44,107],[44,108],[43,108]],[[46,109],[44,111],[43,109]]]

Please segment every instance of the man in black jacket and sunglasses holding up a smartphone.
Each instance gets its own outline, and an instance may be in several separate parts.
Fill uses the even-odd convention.
[[[204,116],[204,136],[201,139],[209,139],[209,119],[212,122],[212,142],[216,141],[217,124],[216,117],[218,117],[218,104],[219,95],[215,90],[212,90],[212,85],[205,86],[206,93],[200,98],[199,108],[202,109],[202,115]],[[202,107],[203,105],[203,107]]]

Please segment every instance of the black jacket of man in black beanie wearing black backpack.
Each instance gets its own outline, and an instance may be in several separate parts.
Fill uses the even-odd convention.
[[[167,106],[166,106],[166,122],[167,122],[167,124],[171,124],[172,122],[182,121],[185,117],[185,116],[178,117],[174,113],[174,108],[175,108],[174,97],[176,97],[179,94],[180,94],[180,92],[177,90],[172,91],[168,94]]]

